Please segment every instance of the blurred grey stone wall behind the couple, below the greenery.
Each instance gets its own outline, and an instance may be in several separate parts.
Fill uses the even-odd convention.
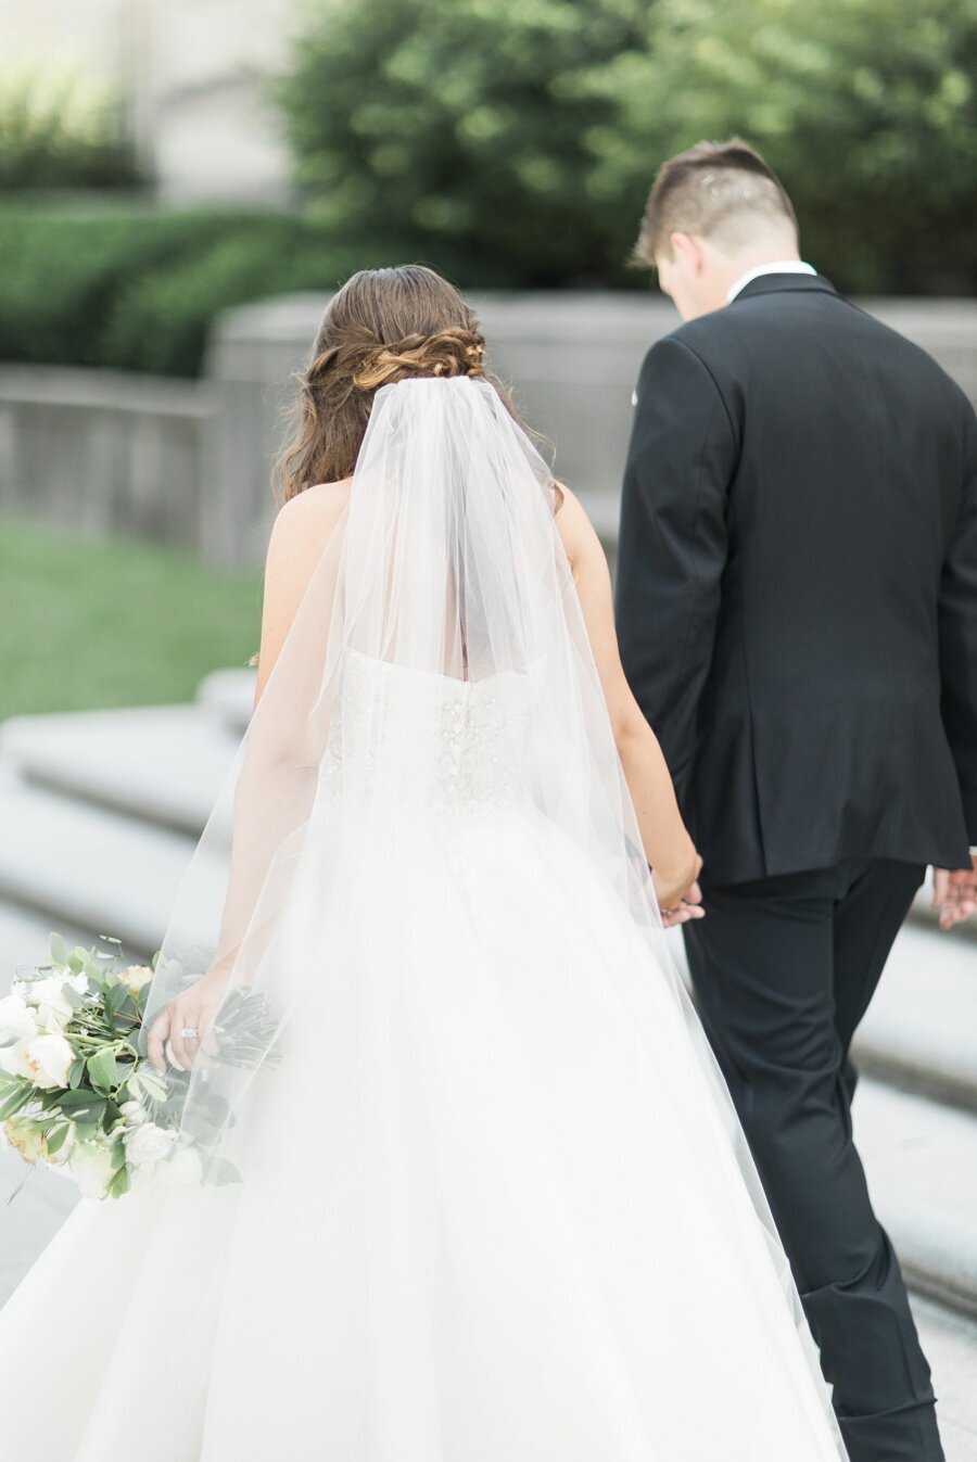
[[[610,542],[633,383],[648,346],[674,327],[673,307],[651,294],[475,303],[493,364]],[[977,303],[867,307],[929,349],[977,401]],[[0,507],[183,544],[219,563],[260,563],[290,379],[322,308],[319,297],[294,295],[228,311],[199,383],[0,367]]]

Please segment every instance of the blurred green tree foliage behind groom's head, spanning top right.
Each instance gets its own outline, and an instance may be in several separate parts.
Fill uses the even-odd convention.
[[[282,88],[331,231],[467,282],[622,282],[658,165],[734,132],[850,289],[977,284],[977,0],[317,0]]]

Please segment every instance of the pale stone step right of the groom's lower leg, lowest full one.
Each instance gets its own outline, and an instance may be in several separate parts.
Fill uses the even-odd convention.
[[[910,1284],[977,1316],[977,1118],[863,1079],[854,1135]]]

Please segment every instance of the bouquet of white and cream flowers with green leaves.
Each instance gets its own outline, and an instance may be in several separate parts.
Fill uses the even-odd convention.
[[[114,950],[69,950],[53,934],[51,962],[18,977],[0,999],[0,1142],[31,1167],[73,1178],[86,1197],[120,1197],[156,1175],[240,1181],[231,1162],[208,1151],[233,1121],[227,1101],[195,1094],[189,1135],[181,1114],[192,1073],[164,1079],[139,1054],[154,966],[123,965]],[[276,1058],[274,1018],[247,988],[228,993],[214,1031],[225,1064]]]

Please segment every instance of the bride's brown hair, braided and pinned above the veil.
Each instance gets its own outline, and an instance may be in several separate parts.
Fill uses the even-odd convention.
[[[484,352],[475,311],[433,269],[352,275],[329,301],[312,361],[297,376],[295,439],[275,474],[279,501],[352,474],[380,386],[411,376],[481,376],[519,421]]]

